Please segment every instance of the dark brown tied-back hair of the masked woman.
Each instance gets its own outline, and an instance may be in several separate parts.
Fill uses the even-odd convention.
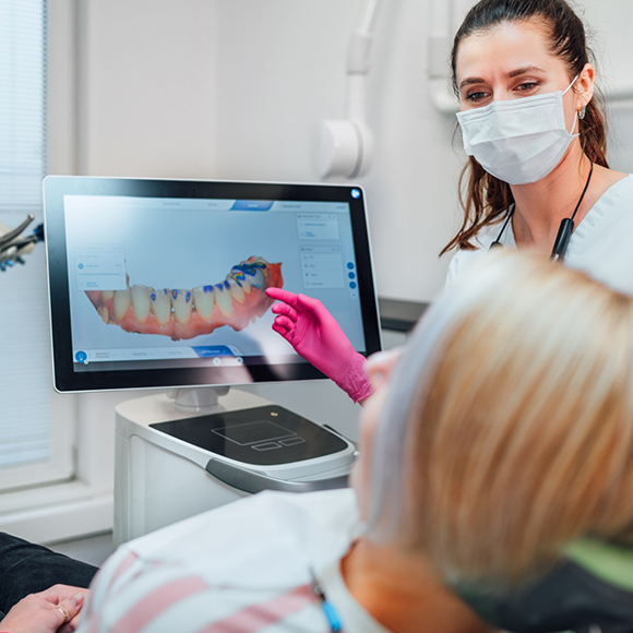
[[[550,51],[568,65],[570,81],[593,60],[583,22],[565,0],[481,0],[470,9],[453,41],[451,69],[453,89],[456,94],[458,94],[457,52],[462,40],[503,23],[528,20],[537,21],[542,27],[549,40]],[[587,105],[585,118],[580,121],[580,139],[587,157],[597,165],[608,167],[606,126],[599,101],[599,95],[595,94]],[[465,213],[464,223],[441,254],[455,247],[474,249],[470,240],[483,227],[505,215],[514,202],[510,186],[490,176],[473,156],[462,172],[459,189]]]

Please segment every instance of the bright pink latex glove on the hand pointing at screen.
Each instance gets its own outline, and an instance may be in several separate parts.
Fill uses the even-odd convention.
[[[282,301],[272,311],[277,315],[273,330],[306,360],[331,378],[355,402],[371,394],[365,374],[366,358],[351,347],[341,325],[319,299],[268,288],[266,295]]]

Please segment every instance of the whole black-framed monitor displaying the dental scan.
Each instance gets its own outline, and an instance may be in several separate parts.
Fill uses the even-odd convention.
[[[58,391],[323,378],[271,325],[278,287],[380,349],[358,187],[46,178]]]

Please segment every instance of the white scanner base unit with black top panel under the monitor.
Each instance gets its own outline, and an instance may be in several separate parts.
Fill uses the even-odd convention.
[[[212,414],[180,411],[166,394],[128,401],[116,423],[115,546],[261,490],[343,488],[356,455],[336,432],[237,389]]]

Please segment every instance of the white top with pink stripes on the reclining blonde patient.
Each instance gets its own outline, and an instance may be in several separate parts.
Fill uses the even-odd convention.
[[[121,546],[91,586],[80,633],[326,633],[312,573],[346,633],[386,633],[348,593],[359,532],[350,489],[262,492]]]

